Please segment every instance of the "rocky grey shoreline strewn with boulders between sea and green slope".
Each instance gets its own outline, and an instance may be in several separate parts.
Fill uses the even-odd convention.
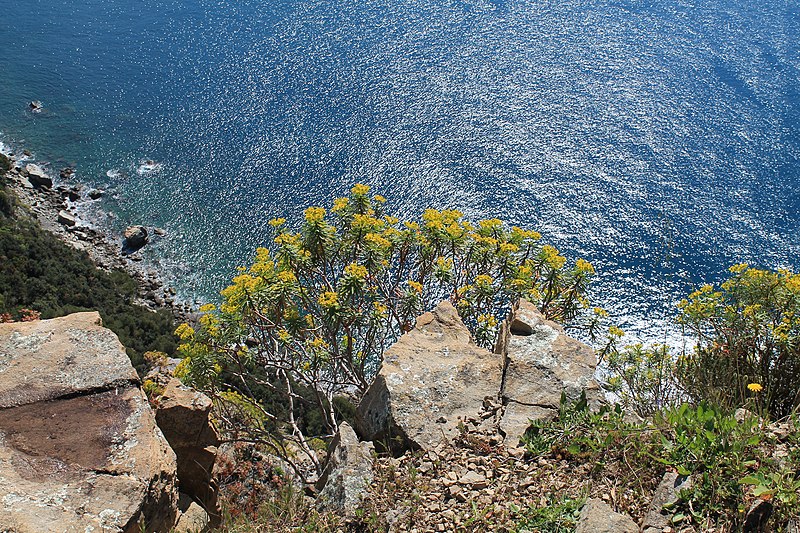
[[[91,221],[81,219],[78,214],[82,203],[99,199],[103,192],[90,189],[73,180],[74,169],[65,168],[58,179],[38,164],[26,158],[6,154],[12,162],[7,174],[9,186],[19,198],[26,212],[42,229],[58,237],[62,242],[85,252],[100,269],[121,269],[130,274],[138,284],[139,305],[152,310],[166,309],[178,321],[186,321],[194,312],[190,302],[176,296],[173,287],[164,282],[161,273],[144,261],[141,248],[150,239],[160,239],[166,233],[160,228],[131,226],[131,235],[139,242],[131,246],[129,237],[106,233]],[[27,155],[27,154],[25,154]],[[143,240],[142,240],[143,239]]]

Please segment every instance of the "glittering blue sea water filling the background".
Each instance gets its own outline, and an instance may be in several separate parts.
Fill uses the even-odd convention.
[[[645,336],[733,263],[800,267],[796,1],[3,4],[0,140],[164,227],[185,295],[358,181],[538,229]]]

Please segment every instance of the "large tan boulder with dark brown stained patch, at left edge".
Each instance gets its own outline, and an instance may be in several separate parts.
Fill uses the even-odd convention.
[[[167,531],[175,454],[97,313],[0,324],[0,531]]]

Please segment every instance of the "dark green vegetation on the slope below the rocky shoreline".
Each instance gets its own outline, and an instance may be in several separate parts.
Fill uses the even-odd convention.
[[[0,164],[2,161],[0,161]],[[136,281],[122,271],[98,269],[75,250],[25,217],[12,217],[13,193],[0,170],[0,320],[20,319],[23,309],[54,318],[97,310],[116,333],[134,366],[147,351],[175,352],[172,315],[135,305]]]

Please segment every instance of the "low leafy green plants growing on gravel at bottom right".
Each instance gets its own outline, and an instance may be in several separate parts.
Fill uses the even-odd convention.
[[[618,407],[590,412],[585,398],[562,398],[555,420],[532,424],[523,442],[534,460],[554,456],[591,464],[593,476],[636,491],[636,501],[647,501],[667,470],[692,476],[691,488],[670,511],[675,523],[700,531],[739,531],[756,499],[772,501],[777,530],[800,512],[800,454],[772,453],[774,437],[757,417],[737,420],[706,403],[663,409],[636,424],[621,413]],[[798,439],[791,433],[787,449]]]

